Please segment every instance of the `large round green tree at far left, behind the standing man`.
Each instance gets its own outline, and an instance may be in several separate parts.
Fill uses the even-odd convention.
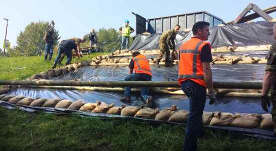
[[[12,52],[15,55],[35,56],[41,55],[45,50],[45,41],[43,39],[45,32],[50,29],[49,22],[38,21],[31,22],[24,31],[17,36],[17,46]],[[54,31],[54,45],[59,37],[58,31]]]

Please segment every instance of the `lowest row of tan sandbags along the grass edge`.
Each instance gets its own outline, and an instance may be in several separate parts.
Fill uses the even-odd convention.
[[[75,102],[61,99],[33,99],[24,96],[0,95],[0,100],[12,104],[27,105],[33,107],[51,107],[63,108],[71,110],[79,110],[92,113],[117,114],[122,116],[140,117],[146,119],[155,119],[162,121],[186,123],[189,112],[186,110],[178,110],[175,105],[171,108],[163,110],[146,108],[144,106],[118,106],[114,107],[113,103],[108,105],[97,101],[96,103],[88,103],[83,100]],[[221,112],[203,112],[203,125],[210,126],[234,126],[243,128],[273,128],[271,114],[247,114],[247,113],[221,113]]]

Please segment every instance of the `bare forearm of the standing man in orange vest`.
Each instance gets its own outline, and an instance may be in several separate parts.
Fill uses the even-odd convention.
[[[213,75],[209,62],[202,62],[204,82],[209,92],[214,92]]]

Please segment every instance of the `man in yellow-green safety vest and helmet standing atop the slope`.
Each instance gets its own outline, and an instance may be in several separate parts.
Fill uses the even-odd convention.
[[[125,20],[125,25],[119,28],[119,32],[122,34],[121,50],[128,49],[130,34],[134,32],[134,29],[129,26],[128,20]]]

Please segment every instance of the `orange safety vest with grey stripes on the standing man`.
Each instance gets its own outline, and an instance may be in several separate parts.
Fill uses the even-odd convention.
[[[202,41],[197,37],[192,37],[190,40],[182,44],[179,49],[179,70],[178,83],[185,80],[192,80],[193,82],[206,87],[203,79],[203,67],[200,60],[201,49],[204,45],[211,44],[207,41]]]

